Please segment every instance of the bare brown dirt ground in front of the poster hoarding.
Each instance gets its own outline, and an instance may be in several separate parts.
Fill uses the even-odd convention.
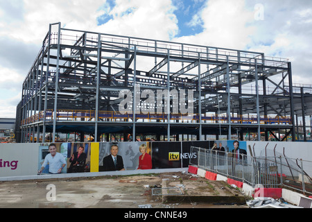
[[[180,185],[184,194],[187,191],[189,194],[212,192],[221,195],[220,192],[228,191],[241,195],[224,182],[207,182],[182,172],[24,180],[0,182],[0,208],[248,208],[246,205],[191,200],[166,203],[162,195],[154,193],[164,182],[170,187]]]

